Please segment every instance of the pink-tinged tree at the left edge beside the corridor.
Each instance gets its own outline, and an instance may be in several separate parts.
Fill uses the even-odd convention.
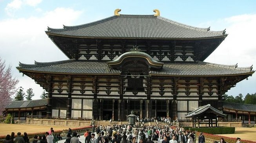
[[[16,92],[16,84],[19,80],[13,78],[11,66],[5,67],[5,61],[0,58],[0,113],[11,100],[11,95]]]

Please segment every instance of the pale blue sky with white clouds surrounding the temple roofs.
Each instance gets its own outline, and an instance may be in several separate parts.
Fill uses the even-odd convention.
[[[256,1],[255,0],[0,0],[0,57],[13,67],[18,86],[33,88],[39,99],[43,89],[16,70],[18,63],[33,64],[66,60],[67,57],[45,34],[47,26],[62,28],[93,22],[120,14],[154,14],[186,25],[229,34],[205,60],[216,64],[254,65],[256,69]],[[228,95],[256,93],[256,75],[239,82]]]

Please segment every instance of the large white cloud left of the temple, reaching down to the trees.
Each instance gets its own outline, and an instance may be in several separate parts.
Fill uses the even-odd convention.
[[[45,30],[47,26],[62,28],[63,24],[74,25],[82,11],[70,8],[56,8],[48,11],[42,17],[5,19],[0,21],[0,57],[6,64],[13,66],[13,76],[20,80],[17,87],[22,86],[26,91],[32,88],[38,99],[42,93],[42,87],[33,79],[19,73],[16,70],[19,61],[21,63],[33,64],[33,61],[48,62],[65,60],[67,57],[47,37]]]

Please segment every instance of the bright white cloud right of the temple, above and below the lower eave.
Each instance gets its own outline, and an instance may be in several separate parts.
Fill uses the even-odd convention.
[[[218,20],[216,23],[211,21],[210,24],[211,27],[221,27],[221,29],[225,26],[226,33],[229,35],[205,61],[229,65],[238,63],[238,67],[249,67],[253,64],[255,70],[256,45],[254,41],[256,29],[254,27],[256,25],[256,14],[232,16]],[[239,93],[243,95],[256,93],[255,73],[248,79],[239,82],[227,94],[237,96]]]

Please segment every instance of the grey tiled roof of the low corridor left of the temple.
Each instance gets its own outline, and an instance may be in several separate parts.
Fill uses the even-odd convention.
[[[47,99],[40,100],[26,100],[26,101],[11,101],[5,107],[5,109],[11,108],[29,108],[29,107],[41,107],[47,105]]]

